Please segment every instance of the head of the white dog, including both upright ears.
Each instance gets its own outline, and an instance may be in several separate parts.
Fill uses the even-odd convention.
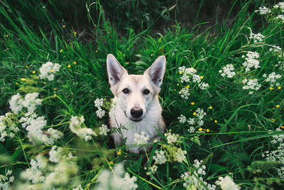
[[[129,75],[116,58],[109,54],[107,56],[107,73],[111,93],[118,97],[118,106],[126,117],[134,122],[143,120],[148,109],[160,92],[165,74],[165,56],[158,57],[143,75]]]

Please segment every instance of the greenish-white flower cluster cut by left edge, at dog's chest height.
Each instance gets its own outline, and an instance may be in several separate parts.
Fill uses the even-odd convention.
[[[15,122],[13,122],[12,112],[7,112],[5,115],[0,115],[0,141],[4,142],[6,137],[15,137],[16,132],[19,131]]]

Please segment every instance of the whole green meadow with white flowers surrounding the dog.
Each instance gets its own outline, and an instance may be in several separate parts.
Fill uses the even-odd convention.
[[[284,2],[226,2],[1,1],[0,189],[284,189]],[[111,138],[109,53],[167,59],[145,154]]]

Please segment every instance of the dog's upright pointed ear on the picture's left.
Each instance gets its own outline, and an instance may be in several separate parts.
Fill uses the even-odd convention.
[[[127,70],[119,64],[114,55],[107,55],[107,74],[109,75],[109,84],[119,83],[122,75],[128,74]]]

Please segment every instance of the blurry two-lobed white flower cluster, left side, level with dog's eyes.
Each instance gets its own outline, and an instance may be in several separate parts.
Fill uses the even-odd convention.
[[[37,98],[39,93],[28,93],[24,98],[21,97],[19,93],[13,95],[9,101],[10,108],[14,113],[18,113],[23,107],[28,109],[28,112],[34,112],[37,105],[41,104],[39,98]]]

